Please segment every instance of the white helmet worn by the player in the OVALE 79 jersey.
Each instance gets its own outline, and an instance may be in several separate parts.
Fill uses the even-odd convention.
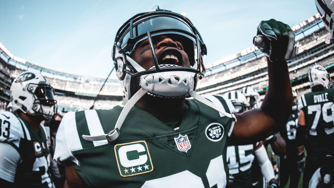
[[[333,83],[326,69],[320,65],[313,66],[309,71],[309,81],[311,88],[322,85],[326,89],[331,88]]]

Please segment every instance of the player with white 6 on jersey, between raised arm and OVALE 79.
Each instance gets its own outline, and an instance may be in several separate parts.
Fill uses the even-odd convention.
[[[282,127],[280,134],[286,142],[286,155],[279,158],[279,187],[285,187],[290,176],[290,188],[298,187],[301,172],[297,165],[296,132],[299,110],[297,108],[297,93],[292,91],[293,106],[289,120],[285,127]]]

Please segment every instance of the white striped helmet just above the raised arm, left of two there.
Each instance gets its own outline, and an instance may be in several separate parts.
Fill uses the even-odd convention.
[[[242,113],[249,107],[247,98],[239,91],[229,91],[224,93],[224,97],[228,98],[235,108],[236,113]]]

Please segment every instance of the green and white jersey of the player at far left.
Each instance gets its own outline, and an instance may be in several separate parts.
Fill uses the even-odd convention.
[[[1,111],[0,128],[0,142],[10,144],[20,154],[21,161],[13,172],[15,187],[54,187],[45,127],[40,125],[37,133],[23,119]]]

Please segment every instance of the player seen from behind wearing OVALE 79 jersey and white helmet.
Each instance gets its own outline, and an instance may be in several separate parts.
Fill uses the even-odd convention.
[[[303,187],[308,187],[313,173],[322,165],[323,156],[334,149],[334,89],[326,69],[313,66],[309,73],[311,93],[298,100],[298,128],[296,134],[297,160],[303,162],[307,151]],[[333,184],[333,183],[332,183]],[[332,185],[331,184],[331,185]]]

